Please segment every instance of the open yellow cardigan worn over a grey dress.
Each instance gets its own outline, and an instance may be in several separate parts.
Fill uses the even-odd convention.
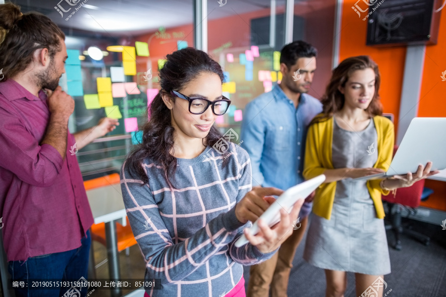
[[[317,117],[322,117],[319,114]],[[373,117],[376,131],[378,134],[378,160],[373,167],[381,168],[387,171],[392,160],[394,130],[393,123],[383,117]],[[332,144],[333,144],[333,117],[313,124],[308,129],[307,142],[305,147],[305,163],[303,176],[305,179],[311,179],[323,174],[326,169],[334,169],[332,163]],[[383,201],[381,194],[388,195],[380,187],[381,180],[367,181],[367,188],[370,197],[375,204],[377,217],[384,218]],[[316,190],[316,196],[313,202],[313,212],[320,217],[330,220],[335,200],[336,182],[325,183]]]

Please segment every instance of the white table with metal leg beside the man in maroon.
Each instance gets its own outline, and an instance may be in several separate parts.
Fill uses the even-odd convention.
[[[95,224],[105,223],[107,258],[109,259],[110,279],[119,280],[119,254],[117,249],[116,220],[126,216],[120,184],[112,184],[87,191],[88,202]],[[112,297],[121,296],[120,288],[113,288]]]

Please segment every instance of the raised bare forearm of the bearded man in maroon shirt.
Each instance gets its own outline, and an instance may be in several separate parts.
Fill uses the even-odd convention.
[[[48,144],[56,148],[62,158],[65,158],[67,133],[68,117],[58,113],[52,113],[47,127],[47,133],[41,145]]]

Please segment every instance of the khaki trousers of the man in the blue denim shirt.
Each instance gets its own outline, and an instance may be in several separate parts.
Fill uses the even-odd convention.
[[[307,227],[308,216],[300,223],[299,229],[293,230],[269,260],[252,265],[249,270],[248,292],[246,297],[269,297],[270,285],[272,297],[288,297],[288,279],[296,249]]]

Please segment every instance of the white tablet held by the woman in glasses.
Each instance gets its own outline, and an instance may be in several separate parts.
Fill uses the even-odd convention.
[[[299,199],[307,198],[314,190],[317,189],[325,181],[325,175],[321,174],[315,178],[298,184],[297,186],[291,187],[282,195],[280,195],[277,200],[268,207],[267,210],[259,217],[259,219],[264,220],[268,226],[273,227],[280,221],[280,208],[284,208],[286,212],[290,213],[294,203]],[[257,221],[252,224],[251,228],[248,228],[250,234],[257,234],[259,232],[259,226],[257,226]],[[236,242],[236,247],[241,247],[246,245],[248,240],[243,234]]]

